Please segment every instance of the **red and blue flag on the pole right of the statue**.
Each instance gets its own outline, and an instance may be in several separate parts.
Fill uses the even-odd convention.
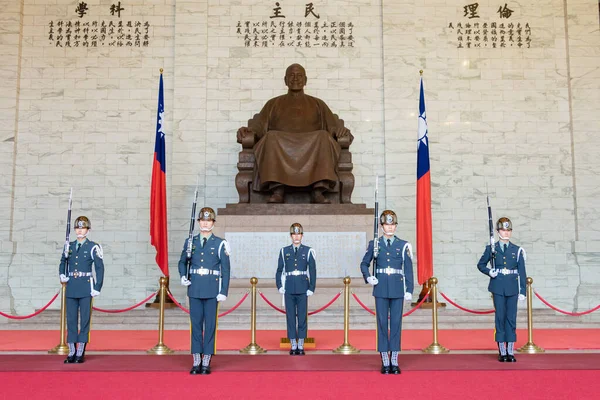
[[[422,285],[433,276],[433,245],[431,237],[431,177],[429,175],[429,136],[425,93],[421,78],[419,98],[419,139],[417,141],[417,256],[418,280]]]

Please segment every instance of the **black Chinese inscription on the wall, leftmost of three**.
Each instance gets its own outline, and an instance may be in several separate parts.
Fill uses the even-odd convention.
[[[109,8],[111,16],[118,21],[88,21],[89,7],[80,2],[75,7],[77,19],[56,20],[48,23],[48,41],[55,47],[148,47],[150,44],[150,23],[143,21],[122,21],[121,2]]]

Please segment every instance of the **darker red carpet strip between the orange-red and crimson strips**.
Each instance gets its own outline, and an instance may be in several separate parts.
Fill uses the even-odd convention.
[[[482,371],[482,370],[600,370],[600,353],[517,354],[516,363],[500,363],[496,354],[401,354],[403,371]],[[152,372],[188,371],[190,355],[104,355],[89,354],[83,364],[63,364],[64,356],[0,355],[0,372]],[[376,354],[336,355],[216,355],[213,372],[289,372],[289,371],[377,371],[381,360]]]

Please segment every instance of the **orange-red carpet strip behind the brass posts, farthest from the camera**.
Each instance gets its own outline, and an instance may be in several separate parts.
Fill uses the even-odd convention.
[[[527,331],[517,330],[517,347],[527,342]],[[46,351],[59,342],[58,331],[0,331],[0,351]],[[256,341],[267,350],[279,349],[284,331],[258,331]],[[343,342],[342,331],[313,330],[317,350],[331,350]],[[91,351],[147,350],[158,342],[156,331],[92,331]],[[547,350],[600,349],[600,329],[537,329],[534,341]],[[495,350],[493,331],[486,329],[441,330],[439,342],[451,350]],[[219,331],[217,349],[239,350],[250,342],[249,331]],[[402,332],[403,350],[420,350],[432,342],[430,330]],[[375,331],[351,331],[350,343],[361,350],[375,350]],[[173,350],[190,348],[188,331],[166,331],[165,344]]]

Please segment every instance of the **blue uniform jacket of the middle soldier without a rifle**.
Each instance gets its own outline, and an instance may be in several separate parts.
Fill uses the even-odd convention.
[[[297,274],[300,274],[294,275],[294,271],[299,271]],[[285,285],[283,287],[286,294],[305,294],[307,290],[314,292],[317,286],[315,251],[303,244],[298,246],[297,254],[294,254],[293,244],[282,247],[279,251],[275,281],[277,289]]]

